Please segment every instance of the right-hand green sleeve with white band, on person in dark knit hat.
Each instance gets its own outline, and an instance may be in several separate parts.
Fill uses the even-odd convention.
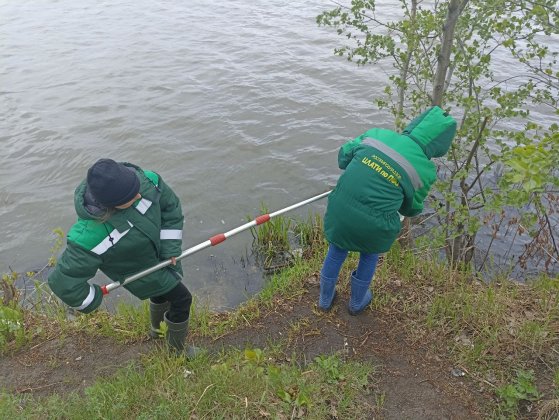
[[[184,216],[179,198],[161,177],[159,177],[161,197],[161,258],[177,257],[182,252],[182,227]]]

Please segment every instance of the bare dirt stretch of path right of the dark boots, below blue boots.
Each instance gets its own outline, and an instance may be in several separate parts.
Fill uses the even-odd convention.
[[[316,309],[318,279],[309,278],[307,283],[308,292],[298,299],[280,303],[257,322],[206,346],[263,348],[270,340],[284,340],[286,353],[302,360],[341,352],[347,358],[370,360],[379,368],[373,398],[384,395],[383,419],[484,417],[485,397],[476,391],[476,384],[454,377],[453,367],[426,348],[410,346],[400,320],[370,310],[350,316],[349,296],[343,293],[336,297],[332,311],[323,314]],[[369,403],[374,406],[376,401]]]

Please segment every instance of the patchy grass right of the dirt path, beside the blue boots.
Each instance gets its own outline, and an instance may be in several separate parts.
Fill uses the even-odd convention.
[[[412,339],[429,342],[481,385],[492,377],[495,418],[517,418],[519,407],[557,398],[557,278],[485,283],[450,269],[436,254],[414,255],[397,244],[386,266],[375,276],[375,307],[405,316]],[[535,391],[537,383],[551,383],[552,389],[544,396]]]

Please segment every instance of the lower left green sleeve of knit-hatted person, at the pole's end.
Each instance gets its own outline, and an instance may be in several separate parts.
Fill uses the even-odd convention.
[[[101,305],[101,287],[89,284],[101,265],[101,258],[68,242],[55,269],[48,277],[51,290],[62,302],[83,313],[94,311]]]

